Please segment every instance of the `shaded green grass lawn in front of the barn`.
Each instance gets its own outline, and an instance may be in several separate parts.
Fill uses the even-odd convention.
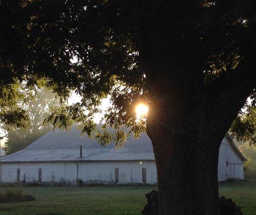
[[[2,188],[4,189],[4,188]],[[154,186],[126,187],[23,187],[35,196],[33,202],[2,203],[0,214],[140,214],[146,204],[144,194]],[[245,215],[256,215],[256,181],[224,182],[220,195],[231,197]]]

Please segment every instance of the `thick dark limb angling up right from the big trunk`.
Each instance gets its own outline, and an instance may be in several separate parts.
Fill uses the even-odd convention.
[[[248,61],[241,63],[235,70],[227,70],[212,82],[207,91],[211,101],[208,105],[212,107],[209,109],[212,111],[208,113],[207,123],[214,126],[210,128],[211,132],[223,131],[224,137],[255,87],[254,63]]]

